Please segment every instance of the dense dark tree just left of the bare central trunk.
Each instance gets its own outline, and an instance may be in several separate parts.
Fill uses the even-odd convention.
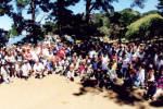
[[[67,8],[70,5],[75,5],[79,0],[57,0],[50,2],[48,10],[51,11],[50,20],[53,20],[58,25],[58,33],[60,36],[66,31],[66,26],[70,25],[73,12]],[[65,28],[64,28],[65,27]]]

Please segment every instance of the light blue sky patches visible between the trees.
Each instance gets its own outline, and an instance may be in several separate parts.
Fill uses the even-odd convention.
[[[130,8],[133,0],[118,0],[118,2],[113,2],[113,7],[115,11],[122,11],[126,8]],[[140,9],[140,8],[134,8],[135,11],[139,11],[140,13],[145,13],[148,12],[150,10],[156,10],[156,4],[159,3],[158,0],[147,0],[147,2],[145,3],[145,8]],[[73,12],[75,14],[77,13],[84,13],[85,12],[85,1],[80,0],[80,2],[78,2],[76,5],[70,7],[71,10],[73,10]],[[95,13],[96,11],[93,11],[92,13]],[[25,13],[25,12],[23,12]],[[24,16],[29,17],[29,15],[24,14]],[[46,13],[40,13],[39,15],[37,15],[36,21],[40,21],[43,16],[46,16]],[[41,23],[43,23],[45,21],[42,20]],[[9,31],[11,28],[11,25],[13,24],[13,21],[8,17],[7,15],[4,16],[0,16],[0,28],[3,28],[5,31]]]

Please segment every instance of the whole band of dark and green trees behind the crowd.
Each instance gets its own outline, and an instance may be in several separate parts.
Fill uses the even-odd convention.
[[[90,36],[106,36],[111,39],[149,39],[162,35],[163,0],[158,10],[140,14],[133,9],[114,11],[113,2],[120,0],[84,0],[85,12],[74,14],[70,7],[80,0],[0,0],[0,16],[13,20],[8,34],[18,36],[27,32],[27,39],[37,43],[45,34],[75,35],[80,39]],[[143,8],[148,0],[131,0],[131,7]],[[84,9],[83,9],[84,10]],[[98,11],[99,13],[93,13]],[[38,21],[39,14],[46,14]],[[27,16],[26,16],[27,15]],[[41,24],[41,21],[45,24]],[[158,27],[155,29],[155,27]],[[88,31],[89,29],[89,31]]]

